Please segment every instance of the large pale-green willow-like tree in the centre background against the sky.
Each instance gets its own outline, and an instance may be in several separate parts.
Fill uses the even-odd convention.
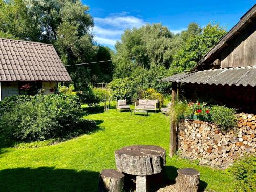
[[[134,71],[150,69],[152,65],[168,69],[181,41],[180,36],[174,35],[161,24],[125,30],[121,41],[115,45],[116,54],[112,55],[114,77],[131,76]]]

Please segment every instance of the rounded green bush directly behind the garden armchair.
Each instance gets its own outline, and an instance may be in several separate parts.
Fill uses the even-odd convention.
[[[132,77],[114,79],[110,82],[111,96],[114,100],[126,99],[131,102],[137,90],[137,83]]]

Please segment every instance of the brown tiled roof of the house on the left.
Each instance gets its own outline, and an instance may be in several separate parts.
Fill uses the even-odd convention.
[[[71,78],[51,44],[0,38],[0,81],[55,81]]]

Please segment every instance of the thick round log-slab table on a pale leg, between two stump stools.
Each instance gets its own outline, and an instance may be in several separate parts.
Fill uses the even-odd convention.
[[[136,175],[136,192],[148,191],[146,176],[158,174],[165,166],[165,150],[159,146],[134,145],[115,151],[119,172]]]

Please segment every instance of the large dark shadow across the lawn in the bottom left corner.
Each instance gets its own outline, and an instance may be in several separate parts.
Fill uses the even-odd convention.
[[[0,191],[97,191],[98,172],[54,167],[0,171]]]

